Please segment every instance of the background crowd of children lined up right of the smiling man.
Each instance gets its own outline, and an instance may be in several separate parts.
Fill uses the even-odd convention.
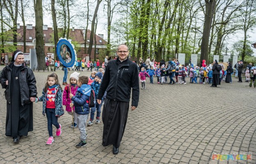
[[[142,64],[139,69],[139,77],[140,82],[142,83],[142,89],[146,89],[145,82],[146,77],[149,77],[150,83],[153,84],[153,76],[157,77],[158,84],[164,84],[167,83],[167,77],[169,77],[168,71],[165,71],[167,69],[167,65],[162,64],[160,66],[160,63],[155,62],[154,66],[151,66],[150,69],[145,71],[145,67]],[[252,68],[253,70],[253,68]],[[205,67],[199,67],[194,66],[194,64],[191,64],[189,66],[185,66],[184,64],[176,64],[175,68],[173,69],[175,71],[175,77],[176,82],[173,84],[187,84],[186,77],[190,77],[190,83],[195,84],[212,84],[213,83],[213,70],[212,65],[209,64]],[[233,72],[232,72],[233,73]],[[245,75],[247,76],[247,79],[255,79],[256,76],[256,67],[255,67],[255,74],[250,75],[251,72],[247,71]],[[222,67],[222,70],[220,71],[220,81],[225,81],[226,79],[226,70]],[[251,78],[251,76],[254,76],[254,78]],[[232,82],[232,81],[231,81]]]

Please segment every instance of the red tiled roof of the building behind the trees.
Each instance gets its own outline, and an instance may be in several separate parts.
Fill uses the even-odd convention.
[[[62,29],[59,29],[62,30]],[[23,41],[23,26],[20,26],[19,29],[17,29],[17,41]],[[32,42],[33,39],[36,38],[35,35],[35,27],[32,28],[32,30],[26,29],[26,42]],[[46,34],[46,43],[49,42],[53,42],[50,41],[51,39],[53,39],[53,28],[52,27],[48,27],[48,30],[43,30],[43,34]],[[87,39],[90,39],[90,34],[91,34],[91,30],[87,30]],[[32,39],[30,39],[29,37],[32,37]],[[60,38],[61,36],[59,36]],[[69,30],[69,39],[72,39],[73,41],[77,41],[80,44],[84,44],[84,36],[83,36],[83,30],[82,29],[74,29],[74,31],[72,31],[72,29]],[[100,41],[102,41],[102,43],[100,43]],[[86,42],[87,44],[89,44],[89,42]],[[94,43],[94,41],[93,41]],[[105,45],[107,44],[107,41],[105,41],[103,38],[101,38],[100,36],[96,35],[96,43],[98,45]]]

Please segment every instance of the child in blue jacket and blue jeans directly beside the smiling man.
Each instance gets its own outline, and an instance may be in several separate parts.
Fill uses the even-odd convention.
[[[96,102],[97,100],[97,96],[98,96],[98,90],[101,87],[101,79],[102,79],[102,73],[101,72],[97,72],[95,74],[94,77],[94,82],[91,83],[91,89],[93,89],[94,91],[94,107],[91,107],[91,112],[90,112],[90,121],[87,124],[88,126],[91,126],[94,124],[94,113],[95,111],[97,111],[96,114],[96,124],[100,123],[100,116],[101,116],[101,104],[98,104],[98,102]]]

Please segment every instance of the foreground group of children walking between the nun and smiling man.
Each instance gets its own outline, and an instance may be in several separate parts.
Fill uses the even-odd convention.
[[[100,123],[101,104],[96,101],[98,90],[101,86],[104,69],[99,68],[98,72],[92,71],[91,76],[79,76],[80,73],[73,72],[70,75],[69,84],[62,89],[56,73],[48,75],[47,82],[43,88],[42,96],[36,98],[36,102],[43,101],[43,116],[47,117],[49,138],[46,144],[51,145],[53,139],[53,125],[56,127],[56,136],[62,133],[62,126],[58,119],[64,114],[63,106],[66,107],[68,114],[73,116],[71,128],[80,130],[81,141],[76,145],[77,148],[86,146],[86,122],[90,117],[88,126],[94,124],[94,113],[96,112],[96,124]],[[94,107],[89,107],[91,91],[94,91]],[[63,106],[62,106],[63,105]],[[90,114],[90,116],[89,116]]]

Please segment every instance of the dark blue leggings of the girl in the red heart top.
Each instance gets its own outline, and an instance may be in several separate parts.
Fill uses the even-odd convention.
[[[53,125],[59,129],[58,117],[55,116],[55,109],[46,108],[47,117],[47,127],[49,132],[49,137],[53,136]]]

